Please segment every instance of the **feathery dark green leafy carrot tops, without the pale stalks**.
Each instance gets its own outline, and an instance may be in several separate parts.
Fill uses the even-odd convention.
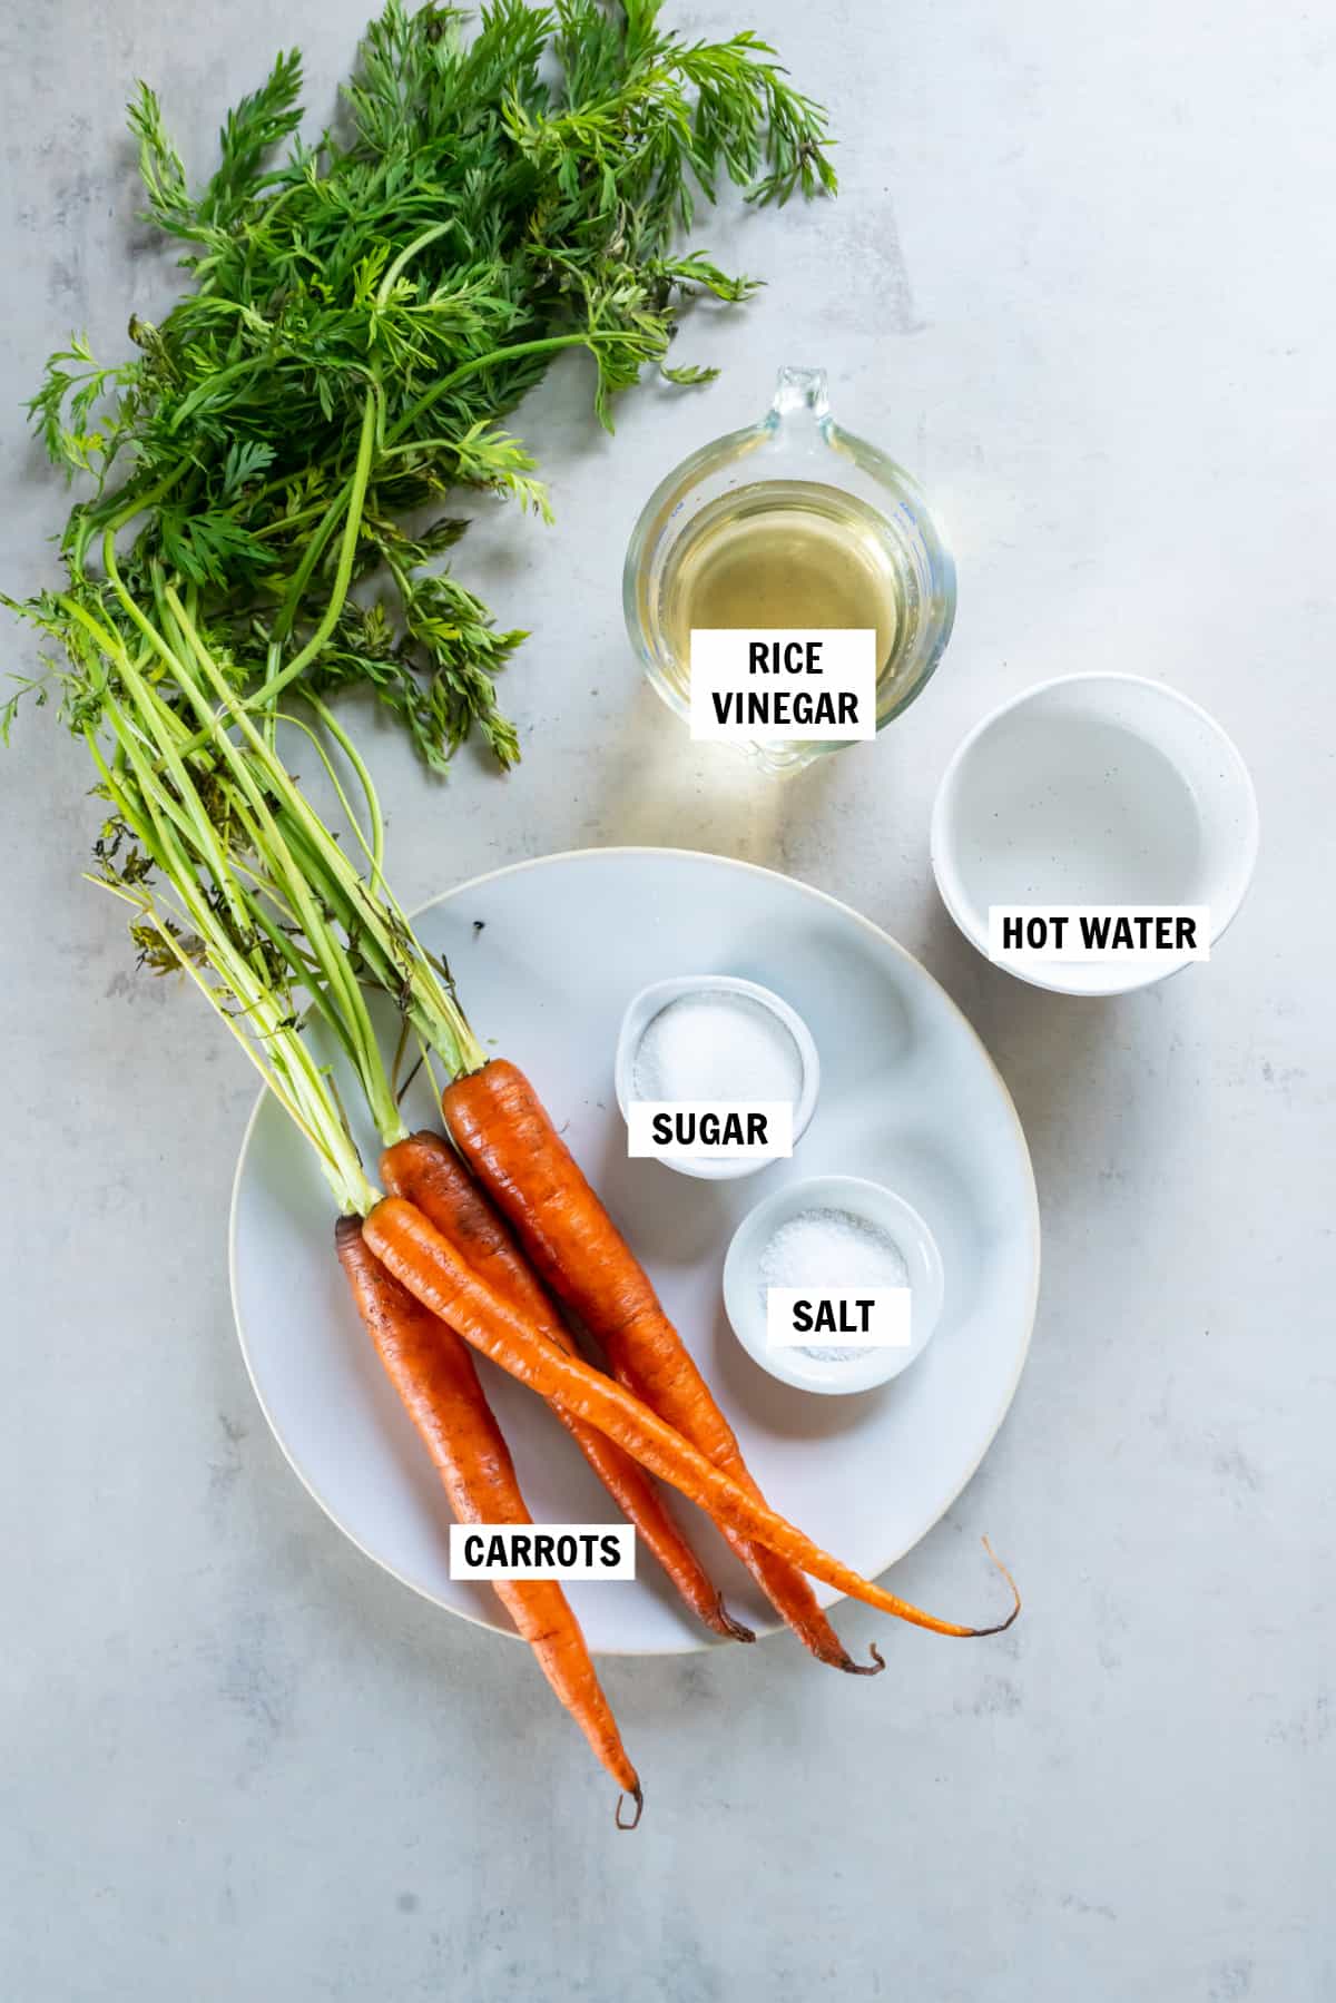
[[[130,320],[130,359],[72,337],[32,399],[80,485],[68,585],[110,529],[132,543],[126,583],[162,565],[198,593],[256,709],[294,681],[365,685],[433,771],[475,731],[505,767],[497,675],[523,633],[443,569],[461,521],[409,525],[461,489],[551,519],[505,417],[565,349],[609,427],[645,369],[709,381],[669,367],[683,308],[753,282],[675,238],[725,182],[749,200],[833,188],[825,116],[757,36],[687,40],[657,0],[495,0],[473,32],[453,6],[389,0],[347,118],[298,138],[300,88],[280,54],[198,192],[136,90],[146,214],[188,288]]]

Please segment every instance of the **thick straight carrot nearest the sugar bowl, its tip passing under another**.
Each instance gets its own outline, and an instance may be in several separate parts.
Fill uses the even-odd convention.
[[[495,1058],[447,1086],[445,1120],[475,1176],[519,1230],[529,1258],[605,1346],[613,1374],[715,1466],[763,1500],[737,1436],[691,1352],[659,1306],[629,1244],[589,1188],[571,1150],[517,1066]],[[801,1572],[735,1530],[725,1532],[775,1610],[821,1662],[875,1677],[855,1662]]]

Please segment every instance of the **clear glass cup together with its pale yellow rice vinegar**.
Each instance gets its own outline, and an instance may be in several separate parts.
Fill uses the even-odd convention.
[[[877,729],[933,673],[955,617],[955,565],[919,485],[829,415],[823,369],[781,369],[759,425],[713,439],[653,491],[623,577],[631,645],[691,717],[691,629],[873,629]],[[795,771],[837,741],[751,745]]]

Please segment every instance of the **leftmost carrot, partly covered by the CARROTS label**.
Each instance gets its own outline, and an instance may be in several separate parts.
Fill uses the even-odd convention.
[[[377,1262],[359,1218],[339,1220],[335,1248],[381,1362],[437,1464],[455,1518],[529,1522],[515,1464],[469,1350]],[[619,1797],[617,1827],[635,1829],[641,1783],[565,1592],[551,1578],[495,1578],[493,1588],[595,1757],[635,1803],[633,1817],[623,1823]]]

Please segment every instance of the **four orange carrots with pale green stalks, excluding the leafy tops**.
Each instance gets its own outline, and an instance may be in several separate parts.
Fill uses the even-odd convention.
[[[337,1202],[337,1252],[363,1322],[461,1520],[527,1522],[525,1500],[471,1352],[527,1384],[577,1446],[715,1634],[749,1640],[651,1476],[703,1508],[799,1640],[853,1675],[815,1602],[823,1580],[937,1634],[991,1634],[907,1604],[861,1578],[779,1516],[607,1210],[529,1080],[487,1058],[449,969],[423,949],[383,867],[383,821],[355,745],[322,705],[324,735],[363,789],[355,813],[312,721],[292,715],[347,813],[337,839],[286,769],[276,717],[256,723],[228,663],[200,629],[192,593],[160,569],[142,603],[120,575],[66,595],[60,621],[80,729],[108,803],[98,881],[134,907],[132,933],[160,967],[182,967],[298,1124]],[[68,707],[72,695],[68,691]],[[361,861],[353,851],[361,847]],[[409,1134],[373,1028],[369,991],[393,995],[403,1036],[443,1066],[443,1134]],[[375,1118],[373,1186],[328,1072],[298,1028],[337,1036]],[[577,1350],[559,1306],[599,1344]],[[1008,1574],[1010,1578],[1010,1574]],[[499,1582],[561,1703],[633,1803],[641,1783],[555,1582]]]

